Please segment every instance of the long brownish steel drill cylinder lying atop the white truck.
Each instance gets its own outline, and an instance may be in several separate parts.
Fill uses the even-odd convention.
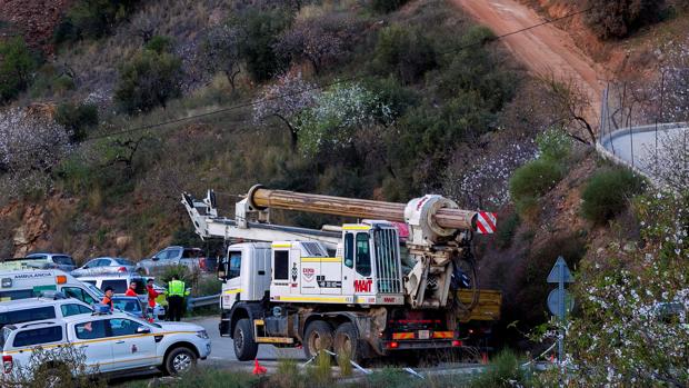
[[[309,195],[253,187],[249,202],[257,208],[318,212],[352,218],[405,222],[406,203]],[[433,221],[447,229],[476,230],[476,211],[442,208],[432,215]]]

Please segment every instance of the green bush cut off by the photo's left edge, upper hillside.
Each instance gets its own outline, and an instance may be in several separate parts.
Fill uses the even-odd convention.
[[[0,41],[0,103],[27,89],[37,62],[23,38]]]

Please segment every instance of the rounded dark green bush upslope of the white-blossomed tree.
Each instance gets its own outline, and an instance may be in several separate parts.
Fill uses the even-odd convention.
[[[371,64],[379,74],[413,83],[438,62],[432,41],[419,28],[395,24],[380,31]]]

